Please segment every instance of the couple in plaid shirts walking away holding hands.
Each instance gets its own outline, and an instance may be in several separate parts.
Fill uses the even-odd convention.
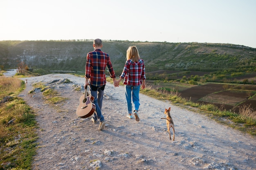
[[[86,58],[85,65],[85,87],[90,85],[90,91],[94,97],[94,104],[96,106],[92,121],[97,123],[99,120],[99,130],[104,129],[106,122],[101,113],[102,100],[104,88],[106,85],[105,69],[108,67],[110,77],[113,79],[115,87],[119,87],[119,83],[124,79],[125,96],[128,115],[126,117],[132,119],[132,112],[135,120],[139,122],[139,90],[145,88],[145,65],[144,61],[139,57],[139,52],[136,46],[130,46],[126,51],[126,63],[124,70],[119,78],[116,80],[115,72],[107,53],[101,51],[101,39],[95,39],[93,42],[94,51],[89,52]],[[133,109],[132,109],[133,102]]]

